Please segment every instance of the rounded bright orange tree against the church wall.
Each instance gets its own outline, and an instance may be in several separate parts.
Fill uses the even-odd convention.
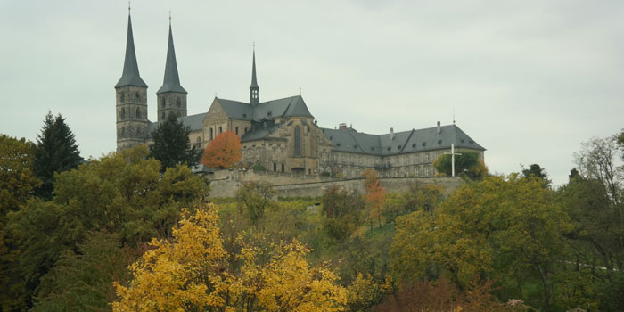
[[[226,131],[206,146],[201,163],[209,168],[232,168],[241,161],[241,139],[234,131]]]

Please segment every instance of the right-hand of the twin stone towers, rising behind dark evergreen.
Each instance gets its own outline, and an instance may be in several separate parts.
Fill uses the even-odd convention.
[[[177,117],[186,116],[186,94],[180,86],[180,77],[177,74],[176,50],[173,46],[171,32],[171,17],[169,17],[169,42],[167,47],[167,62],[165,63],[165,78],[156,97],[158,99],[158,121],[167,119],[170,113]]]

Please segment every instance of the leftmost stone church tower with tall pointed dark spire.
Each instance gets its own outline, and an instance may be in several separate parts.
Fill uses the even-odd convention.
[[[132,21],[127,14],[127,42],[124,70],[117,85],[117,150],[144,144],[147,135],[147,85],[136,64]]]

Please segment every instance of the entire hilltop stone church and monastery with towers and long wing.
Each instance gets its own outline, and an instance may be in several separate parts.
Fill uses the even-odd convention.
[[[191,144],[204,149],[217,135],[233,131],[241,138],[242,167],[271,172],[359,177],[366,168],[374,168],[380,177],[433,177],[433,160],[450,152],[451,144],[459,151],[479,152],[481,159],[485,151],[455,123],[396,133],[390,128],[383,135],[357,132],[346,124],[318,127],[301,95],[261,102],[255,51],[249,103],[215,97],[208,112],[189,116],[170,23],[164,79],[156,92],[157,121],[151,122],[129,14],[126,58],[115,91],[118,150],[151,144],[152,131],[173,113],[189,128]]]

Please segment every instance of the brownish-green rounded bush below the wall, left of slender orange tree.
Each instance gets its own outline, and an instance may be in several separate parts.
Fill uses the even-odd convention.
[[[362,223],[365,202],[356,192],[333,185],[325,190],[321,205],[326,216],[325,232],[339,242],[349,238]]]

